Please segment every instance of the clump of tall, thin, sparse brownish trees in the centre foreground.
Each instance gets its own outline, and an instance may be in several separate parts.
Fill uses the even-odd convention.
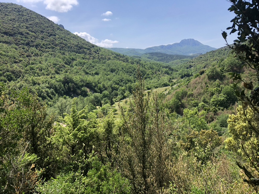
[[[168,120],[163,96],[153,94],[151,100],[140,75],[138,80],[127,112],[120,107],[124,121],[121,166],[134,193],[161,193],[169,187],[174,129]]]

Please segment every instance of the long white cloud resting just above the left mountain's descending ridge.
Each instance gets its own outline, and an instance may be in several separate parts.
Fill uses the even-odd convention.
[[[80,36],[81,38],[87,40],[88,42],[91,42],[92,44],[95,44],[99,47],[105,47],[105,48],[112,48],[114,43],[118,43],[117,40],[102,40],[99,41],[98,39],[92,37],[90,34],[86,33],[86,32],[75,32],[74,34]]]

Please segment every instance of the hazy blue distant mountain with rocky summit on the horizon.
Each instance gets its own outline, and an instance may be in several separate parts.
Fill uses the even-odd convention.
[[[108,48],[109,50],[133,56],[140,56],[145,53],[166,53],[171,55],[193,55],[197,53],[207,53],[208,51],[216,50],[216,48],[204,45],[194,39],[184,39],[179,43],[149,47],[146,49],[133,49],[133,48]]]

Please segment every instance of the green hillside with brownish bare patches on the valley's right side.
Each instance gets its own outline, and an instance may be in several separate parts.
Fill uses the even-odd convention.
[[[251,70],[242,69],[243,63],[228,47],[169,64],[178,74],[177,87],[172,87],[167,95],[169,107],[178,114],[183,114],[185,108],[205,110],[208,123],[234,110],[237,97],[230,87],[233,80],[229,79],[229,72],[241,73],[245,79],[251,74]]]

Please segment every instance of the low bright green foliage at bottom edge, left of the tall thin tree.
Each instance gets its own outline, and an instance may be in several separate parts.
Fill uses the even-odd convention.
[[[45,182],[38,187],[40,193],[130,193],[131,185],[121,177],[117,171],[111,171],[109,166],[104,166],[96,157],[89,158],[91,170],[87,176],[83,171],[60,174],[56,178]]]

